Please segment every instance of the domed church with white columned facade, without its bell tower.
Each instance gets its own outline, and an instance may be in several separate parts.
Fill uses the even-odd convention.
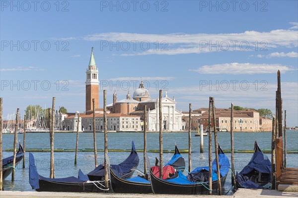
[[[133,99],[130,93],[127,93],[126,99],[117,101],[117,93],[113,94],[113,103],[107,108],[113,113],[124,113],[136,115],[144,120],[144,109],[147,105],[147,126],[148,131],[159,130],[159,99],[151,99],[149,91],[144,88],[141,81],[140,86],[133,93]],[[169,98],[167,92],[161,98],[162,105],[162,129],[164,131],[181,131],[182,128],[182,113],[176,109],[175,98]],[[142,126],[143,130],[143,126]]]

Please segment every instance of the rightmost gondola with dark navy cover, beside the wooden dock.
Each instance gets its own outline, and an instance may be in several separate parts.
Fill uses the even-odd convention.
[[[270,182],[271,162],[255,141],[254,153],[249,163],[240,173],[236,173],[236,186],[246,189],[264,189]]]

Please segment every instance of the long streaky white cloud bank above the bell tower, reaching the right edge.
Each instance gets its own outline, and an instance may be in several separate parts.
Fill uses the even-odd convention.
[[[295,23],[291,23],[295,25]],[[107,32],[87,35],[85,37],[70,37],[62,38],[60,40],[85,40],[85,41],[107,41],[113,42],[128,42],[129,49],[124,51],[122,56],[133,55],[149,55],[149,54],[188,54],[188,53],[202,53],[211,51],[238,51],[238,50],[256,50],[256,41],[258,49],[268,49],[277,47],[294,48],[298,46],[297,30],[292,27],[289,30],[272,30],[270,32],[245,31],[242,33],[220,33],[220,34],[138,34],[125,32]],[[156,50],[156,41],[158,42],[158,50]],[[150,44],[149,50],[142,51],[141,42],[148,42]],[[165,42],[165,43],[163,43]],[[155,44],[154,44],[155,43]],[[212,47],[216,44],[216,47]],[[246,45],[249,45],[248,49]],[[109,49],[111,43],[105,43]],[[120,45],[120,44],[119,44]],[[126,44],[127,45],[127,44]],[[134,49],[135,45],[137,50]],[[244,47],[243,47],[244,46]],[[103,48],[104,49],[104,48]],[[127,49],[126,49],[127,50]]]

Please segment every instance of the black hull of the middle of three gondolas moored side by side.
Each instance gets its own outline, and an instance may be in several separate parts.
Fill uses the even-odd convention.
[[[135,193],[135,194],[149,194],[153,193],[150,183],[140,183],[125,180],[117,177],[113,171],[111,173],[111,186],[115,193]]]

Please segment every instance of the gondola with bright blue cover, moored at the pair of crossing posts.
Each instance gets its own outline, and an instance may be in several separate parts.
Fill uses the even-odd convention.
[[[229,160],[219,146],[219,164],[221,173],[221,184],[224,182],[229,170]],[[212,187],[213,190],[218,189],[218,178],[215,170],[216,160],[212,163]],[[152,173],[150,169],[151,187],[155,194],[182,194],[182,195],[199,195],[209,192],[209,166],[198,167],[188,176],[182,174],[181,170],[176,173],[176,177],[169,179],[160,179]]]

